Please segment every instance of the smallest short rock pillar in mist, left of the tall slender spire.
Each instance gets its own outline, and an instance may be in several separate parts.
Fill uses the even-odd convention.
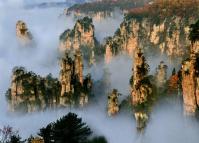
[[[108,115],[113,116],[119,112],[119,93],[116,89],[108,95]]]

